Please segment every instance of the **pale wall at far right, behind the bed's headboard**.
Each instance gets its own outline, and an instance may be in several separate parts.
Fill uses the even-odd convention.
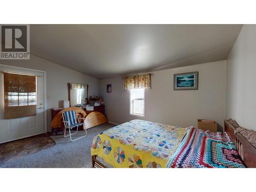
[[[256,25],[244,25],[227,58],[226,118],[256,131]]]

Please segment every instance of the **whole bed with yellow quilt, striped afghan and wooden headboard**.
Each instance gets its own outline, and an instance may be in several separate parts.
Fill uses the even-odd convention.
[[[97,135],[93,167],[256,167],[256,149],[225,120],[225,134],[132,120]],[[243,150],[241,150],[243,146]],[[238,149],[238,151],[237,151]],[[240,149],[240,150],[239,150]]]

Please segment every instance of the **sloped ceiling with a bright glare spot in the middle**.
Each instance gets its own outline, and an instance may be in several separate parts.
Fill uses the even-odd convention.
[[[102,79],[224,60],[243,25],[30,25],[31,53]]]

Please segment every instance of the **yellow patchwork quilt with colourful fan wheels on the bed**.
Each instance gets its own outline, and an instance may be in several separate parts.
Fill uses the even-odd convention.
[[[144,120],[132,120],[97,135],[91,155],[113,167],[165,167],[186,130]]]

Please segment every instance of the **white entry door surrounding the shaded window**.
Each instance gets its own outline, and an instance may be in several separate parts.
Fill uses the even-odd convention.
[[[0,73],[0,143],[45,132],[44,72],[0,65],[1,72],[36,75],[36,115],[5,119],[4,74]]]

